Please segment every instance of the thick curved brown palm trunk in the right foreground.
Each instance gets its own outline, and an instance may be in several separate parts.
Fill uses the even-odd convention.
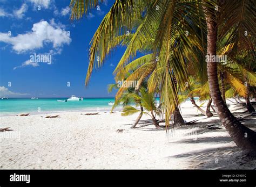
[[[210,9],[204,6],[204,11],[207,24],[207,55],[215,55],[216,57],[217,23],[213,19],[215,16],[214,8]],[[213,62],[211,57],[207,58],[207,76],[213,103],[217,107],[220,121],[226,128],[228,134],[230,134],[231,138],[241,149],[256,151],[256,133],[242,125],[233,116],[221,97],[217,63]]]

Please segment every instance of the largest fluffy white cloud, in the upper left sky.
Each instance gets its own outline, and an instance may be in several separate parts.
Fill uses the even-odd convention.
[[[60,48],[71,42],[66,31],[58,27],[54,21],[49,24],[47,21],[41,20],[33,24],[31,30],[25,34],[18,34],[16,37],[11,37],[7,33],[0,33],[0,41],[12,45],[12,49],[16,53],[40,49],[46,43],[52,43],[53,48]]]

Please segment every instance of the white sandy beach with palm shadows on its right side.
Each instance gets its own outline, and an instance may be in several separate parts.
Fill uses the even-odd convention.
[[[244,107],[228,102],[235,116]],[[130,126],[138,114],[120,116],[100,112],[63,112],[59,118],[47,114],[0,117],[0,169],[255,169],[235,146],[225,129],[208,130],[220,124],[218,116],[206,118],[187,101],[181,105],[186,121],[200,119],[166,134],[147,125],[143,116],[138,128]],[[53,115],[53,114],[51,114]],[[256,130],[255,117],[245,125]],[[118,132],[117,130],[123,130]]]

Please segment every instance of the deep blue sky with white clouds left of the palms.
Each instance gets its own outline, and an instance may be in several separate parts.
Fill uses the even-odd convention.
[[[107,84],[124,52],[119,48],[84,85],[89,42],[113,1],[82,20],[69,20],[69,0],[0,0],[0,95],[7,97],[114,97]],[[70,33],[70,34],[69,34]],[[31,55],[51,63],[31,62]],[[48,61],[50,62],[50,61]],[[70,87],[68,84],[70,82]]]

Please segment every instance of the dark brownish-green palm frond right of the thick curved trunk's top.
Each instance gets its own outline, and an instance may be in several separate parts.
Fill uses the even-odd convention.
[[[225,46],[233,45],[228,54],[247,53],[254,50],[255,2],[251,0],[224,1],[219,16],[219,39],[228,35]]]

